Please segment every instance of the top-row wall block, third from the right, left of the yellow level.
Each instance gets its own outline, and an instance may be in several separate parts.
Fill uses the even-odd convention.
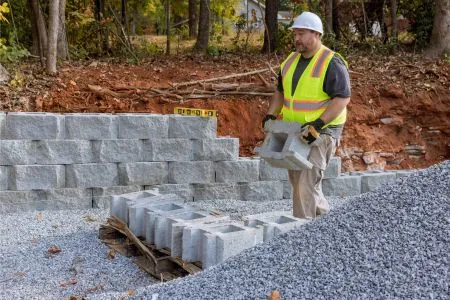
[[[104,140],[117,138],[116,117],[111,114],[66,114],[66,139]]]

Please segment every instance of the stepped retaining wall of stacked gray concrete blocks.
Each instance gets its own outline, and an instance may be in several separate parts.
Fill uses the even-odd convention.
[[[114,195],[154,188],[183,202],[290,198],[287,171],[239,157],[239,140],[217,137],[216,122],[181,115],[0,113],[0,212],[106,208]],[[291,132],[273,136],[282,142],[272,158],[298,163],[291,154],[302,145]],[[323,191],[357,195],[404,174],[342,175],[333,157]],[[138,204],[135,210],[142,214]]]

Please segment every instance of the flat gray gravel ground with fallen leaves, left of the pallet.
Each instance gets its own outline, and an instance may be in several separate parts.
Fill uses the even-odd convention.
[[[106,210],[0,215],[0,299],[65,299],[155,283],[98,238]],[[50,254],[57,246],[61,252]]]

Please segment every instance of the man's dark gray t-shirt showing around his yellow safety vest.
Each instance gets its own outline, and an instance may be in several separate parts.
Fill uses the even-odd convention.
[[[294,70],[294,76],[292,77],[292,94],[295,92],[295,88],[298,85],[300,77],[308,66],[311,58],[300,57],[297,67]],[[283,80],[281,71],[278,74],[278,91],[283,93]],[[330,98],[340,97],[347,98],[351,96],[350,76],[348,74],[347,67],[339,55],[334,55],[328,65],[328,69],[325,73],[325,80],[323,82],[323,91],[330,96]],[[321,133],[329,134],[335,139],[339,139],[343,130],[343,125],[328,126],[321,130]]]

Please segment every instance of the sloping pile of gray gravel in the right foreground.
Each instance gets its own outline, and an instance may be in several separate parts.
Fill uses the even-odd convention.
[[[144,299],[448,299],[450,162],[354,197],[302,229]],[[114,299],[106,293],[92,299]]]

